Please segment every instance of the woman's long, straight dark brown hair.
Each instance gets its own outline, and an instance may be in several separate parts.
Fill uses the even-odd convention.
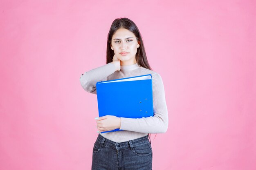
[[[136,26],[136,24],[128,18],[117,18],[111,24],[110,30],[108,32],[106,64],[113,61],[113,56],[115,55],[115,53],[111,49],[110,44],[111,44],[113,34],[120,28],[128,29],[129,31],[134,33],[138,43],[140,44],[139,48],[137,48],[136,62],[138,63],[139,66],[142,66],[144,68],[152,70],[152,68],[148,64],[148,59],[147,59],[147,56],[146,56],[146,52],[145,52],[144,43],[143,43],[143,40],[142,40],[142,37],[141,37],[141,33],[139,32],[139,29]]]

